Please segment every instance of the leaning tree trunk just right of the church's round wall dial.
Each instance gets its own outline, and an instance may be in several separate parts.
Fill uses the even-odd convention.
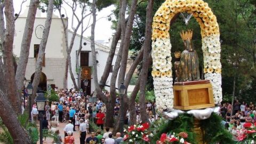
[[[40,78],[41,78],[44,52],[45,52],[45,49],[46,49],[47,39],[48,39],[48,36],[49,36],[51,23],[52,23],[52,13],[53,13],[53,8],[54,8],[53,1],[54,0],[49,0],[49,5],[48,5],[48,9],[47,9],[47,18],[45,20],[45,25],[44,25],[45,28],[44,28],[44,31],[43,31],[43,37],[41,39],[41,43],[39,45],[38,57],[37,57],[37,60],[36,60],[35,76],[34,76],[34,80],[33,80],[33,84],[32,84],[33,85],[33,90],[34,90],[33,95],[31,97],[32,101],[34,101],[34,99],[36,97],[37,87],[39,85]]]

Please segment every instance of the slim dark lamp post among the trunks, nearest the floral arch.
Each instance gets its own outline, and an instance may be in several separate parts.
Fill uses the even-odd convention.
[[[125,87],[124,83],[122,83],[119,87],[119,94],[121,97],[120,132],[121,132],[122,137],[123,137],[123,133],[124,133],[124,94],[125,94],[125,91],[126,91],[126,87]]]

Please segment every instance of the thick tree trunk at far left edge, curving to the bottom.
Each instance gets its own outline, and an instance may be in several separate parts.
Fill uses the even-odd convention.
[[[3,57],[4,63],[0,64],[1,72],[8,74],[8,82],[5,83],[5,86],[0,85],[0,103],[2,108],[0,109],[0,117],[9,130],[13,143],[30,143],[28,135],[23,129],[18,121],[18,113],[20,111],[19,97],[15,97],[17,95],[17,85],[15,84],[15,74],[14,74],[14,66],[13,66],[13,38],[14,38],[14,9],[13,9],[13,1],[4,1],[5,5],[5,19],[6,19],[6,31],[5,37],[3,39]],[[5,79],[6,80],[6,79]],[[4,93],[3,89],[5,87],[8,88],[7,93]],[[8,114],[6,115],[6,111]]]

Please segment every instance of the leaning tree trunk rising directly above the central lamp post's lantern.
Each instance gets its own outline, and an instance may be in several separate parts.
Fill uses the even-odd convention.
[[[125,35],[125,37],[124,37],[124,39],[122,38],[122,42],[121,42],[121,46],[123,47],[122,48],[123,52],[122,52],[121,67],[120,67],[119,76],[118,76],[118,85],[120,85],[122,82],[124,82],[128,52],[129,52],[129,47],[130,47],[130,40],[131,40],[131,35],[132,35],[133,20],[134,20],[134,15],[137,10],[137,2],[138,2],[137,0],[132,1],[131,10],[130,10],[130,14],[129,14],[129,20],[127,22],[125,33],[122,32],[123,35]]]

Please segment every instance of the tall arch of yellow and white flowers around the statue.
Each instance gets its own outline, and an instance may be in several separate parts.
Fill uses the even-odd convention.
[[[179,12],[193,13],[201,27],[205,79],[213,86],[215,104],[222,101],[220,32],[217,18],[202,0],[166,0],[153,19],[152,58],[156,107],[173,109],[170,22]]]

